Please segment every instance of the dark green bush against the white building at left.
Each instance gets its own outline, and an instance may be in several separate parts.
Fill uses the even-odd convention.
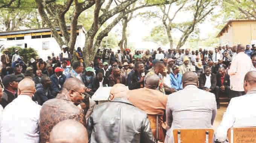
[[[14,53],[14,49],[19,49],[18,54],[23,57],[23,61],[27,63],[31,58],[38,56],[37,51],[32,48],[21,48],[21,47],[9,47],[9,53]]]

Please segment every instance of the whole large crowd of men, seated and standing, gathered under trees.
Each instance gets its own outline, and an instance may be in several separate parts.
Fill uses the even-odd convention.
[[[243,112],[255,105],[254,45],[104,49],[89,65],[80,47],[73,62],[68,47],[62,50],[28,64],[18,49],[4,51],[0,143],[173,143],[173,129],[212,128],[220,95],[231,101],[216,141],[225,142],[232,126],[256,125],[256,116]],[[109,102],[96,105],[91,97],[100,87],[112,88]]]

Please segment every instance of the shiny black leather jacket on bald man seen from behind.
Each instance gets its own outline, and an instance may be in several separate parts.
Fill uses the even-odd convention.
[[[127,100],[98,105],[87,123],[91,143],[155,143],[147,114]]]

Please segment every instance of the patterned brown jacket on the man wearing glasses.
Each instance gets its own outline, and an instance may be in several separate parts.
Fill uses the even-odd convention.
[[[84,111],[69,101],[65,95],[58,94],[55,99],[44,102],[40,111],[39,122],[41,143],[49,142],[53,126],[67,119],[76,120],[86,127]]]

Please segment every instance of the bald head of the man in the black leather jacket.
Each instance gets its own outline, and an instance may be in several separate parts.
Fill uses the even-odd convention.
[[[115,84],[111,90],[110,90],[110,95],[113,96],[112,100],[115,98],[124,98],[127,99],[127,94],[126,92],[128,91],[128,88],[123,85],[123,84]]]

